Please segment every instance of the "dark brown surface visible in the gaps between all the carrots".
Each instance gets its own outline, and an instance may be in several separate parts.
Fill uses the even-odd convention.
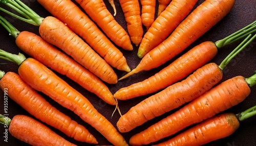
[[[32,8],[36,13],[38,13],[42,17],[46,17],[46,16],[51,15],[42,6],[40,6],[40,4],[37,3],[35,0],[29,0],[29,1],[24,0],[23,2],[25,2],[25,4],[30,6],[30,8]],[[104,2],[106,4],[106,6],[108,7],[108,9],[110,10],[110,12],[113,14],[113,9],[109,5],[108,1],[104,1]],[[198,1],[196,6],[198,6],[202,2],[203,2],[202,0]],[[222,39],[222,38],[226,37],[227,35],[229,35],[233,32],[236,32],[237,30],[243,28],[244,26],[248,25],[249,23],[253,22],[256,18],[255,17],[255,13],[256,13],[256,11],[255,11],[256,3],[255,2],[256,2],[255,0],[236,1],[233,9],[230,11],[230,13],[226,17],[224,17],[224,19],[222,19],[219,23],[217,23],[216,26],[211,28],[211,30],[209,30],[207,33],[205,33],[197,41],[195,41],[193,44],[191,44],[180,55],[187,52],[191,47],[193,47],[193,46],[195,46],[195,45],[197,45],[197,44],[199,44],[203,41],[207,41],[207,40],[217,41],[219,39]],[[126,22],[125,22],[125,19],[124,19],[124,16],[123,16],[123,12],[120,8],[120,4],[117,0],[115,0],[115,5],[116,5],[116,8],[117,8],[117,15],[115,16],[115,18],[120,23],[120,25],[126,30]],[[38,34],[38,27],[29,25],[26,22],[17,20],[15,18],[12,18],[12,17],[4,14],[3,12],[0,12],[0,14],[2,16],[4,16],[6,19],[8,19],[19,31],[30,31],[30,32]],[[17,54],[19,52],[23,53],[16,46],[15,39],[12,38],[12,36],[9,36],[8,32],[2,26],[0,26],[0,32],[1,32],[0,33],[0,43],[1,43],[0,47],[1,47],[2,50],[6,50],[8,52],[15,53],[15,54]],[[231,52],[231,50],[233,50],[233,48],[236,47],[239,44],[239,42],[240,41],[238,41],[236,43],[232,43],[228,46],[225,46],[225,47],[221,48],[219,50],[218,55],[212,60],[212,62],[215,62],[215,63],[219,64],[227,56],[227,54],[229,54]],[[229,78],[232,78],[234,76],[241,75],[241,76],[244,76],[244,77],[250,77],[253,74],[253,71],[256,70],[256,65],[255,65],[256,49],[255,49],[255,46],[256,46],[256,40],[254,40],[249,46],[247,46],[247,48],[243,52],[241,52],[237,56],[237,58],[235,58],[232,62],[230,62],[230,64],[224,70],[224,77],[223,77],[223,80],[221,82],[223,82],[223,81],[225,81]],[[136,56],[137,55],[137,47],[134,46],[133,51],[124,51],[121,48],[120,48],[120,50],[122,51],[122,53],[126,57],[127,63],[129,64],[129,66],[132,69],[135,68],[136,65],[140,61],[140,59]],[[179,57],[180,55],[178,55],[177,57]],[[122,80],[122,81],[118,82],[116,85],[108,85],[108,87],[110,88],[110,90],[114,94],[121,87],[131,85],[132,83],[136,83],[136,82],[142,81],[144,79],[147,79],[148,77],[153,76],[154,74],[156,74],[156,72],[158,72],[159,70],[161,70],[162,68],[167,66],[169,63],[174,61],[177,57],[168,61],[167,63],[165,63],[164,65],[162,65],[158,68],[152,69],[150,71],[142,71],[139,74],[136,74],[134,76],[131,76],[131,77],[125,79],[125,80]],[[7,63],[7,62],[4,61],[4,60],[1,60],[0,63]],[[4,70],[6,72],[7,71],[13,71],[13,72],[17,73],[17,67],[18,66],[16,64],[8,62],[8,64],[6,64],[6,65],[1,65],[0,69]],[[125,72],[123,72],[123,71],[118,71],[116,69],[115,69],[115,71],[116,71],[119,78],[122,77],[123,75],[125,75]],[[59,75],[58,73],[56,73],[56,74]],[[114,110],[113,106],[106,105],[99,98],[97,98],[97,96],[88,92],[87,90],[84,90],[82,87],[80,87],[79,85],[77,85],[76,83],[71,81],[70,79],[66,78],[65,76],[62,76],[62,75],[59,75],[59,76],[62,79],[64,79],[65,81],[67,81],[70,85],[72,85],[72,87],[74,87],[75,89],[80,91],[84,96],[86,96],[92,102],[92,104],[95,106],[95,108],[101,114],[103,114],[106,118],[108,118],[114,126],[116,126],[117,120],[120,116],[116,112],[114,114],[114,116],[111,117],[111,114]],[[99,132],[97,132],[90,125],[88,125],[87,123],[82,121],[73,112],[61,107],[60,105],[55,103],[53,100],[51,100],[50,98],[48,98],[44,94],[42,94],[42,95],[47,99],[47,101],[49,101],[57,109],[59,109],[60,111],[62,111],[65,114],[69,115],[70,117],[72,117],[72,119],[76,120],[79,124],[84,125],[97,138],[97,140],[99,141],[99,145],[111,145],[111,143],[109,143]],[[127,112],[129,110],[129,108],[136,105],[137,103],[139,103],[143,99],[147,98],[148,96],[149,95],[140,96],[136,99],[132,99],[132,100],[128,100],[128,101],[119,101],[119,106],[120,106],[121,112],[124,114],[125,112]],[[3,97],[4,97],[3,91],[0,91],[0,113],[4,112],[4,109],[3,109],[4,99],[3,99]],[[239,105],[234,106],[233,108],[231,108],[231,109],[229,109],[225,112],[238,113],[238,112],[244,111],[247,108],[256,105],[256,100],[255,99],[256,99],[256,88],[252,87],[251,88],[251,94],[248,96],[248,98],[245,101],[243,101]],[[174,111],[170,111],[170,112],[168,112],[168,113],[166,113],[166,114],[164,114],[160,117],[157,117],[153,120],[150,120],[147,123],[145,123],[144,125],[132,130],[131,132],[122,133],[122,135],[124,136],[124,138],[128,142],[129,138],[132,135],[144,130],[148,126],[156,123],[158,120],[160,120],[163,117],[173,113]],[[17,105],[11,99],[8,100],[8,113],[9,113],[10,118],[12,118],[16,114],[25,114],[25,115],[31,116],[28,112],[26,112],[24,109],[22,109],[19,105]],[[240,128],[234,134],[232,134],[231,136],[220,139],[220,140],[210,142],[206,145],[230,145],[230,146],[231,145],[232,146],[256,145],[256,141],[255,141],[255,139],[256,139],[256,133],[255,133],[256,124],[255,124],[255,121],[256,121],[256,117],[252,117],[248,120],[245,120],[241,123]],[[58,130],[56,130],[54,128],[52,128],[52,129],[53,129],[53,131],[58,133],[60,136],[64,137],[65,139],[67,139],[67,140],[69,140],[69,141],[71,141],[75,144],[89,145],[88,143],[77,142],[77,141],[73,140],[72,138],[67,137],[65,134],[59,132]],[[12,137],[10,134],[8,135],[8,142],[5,142],[4,138],[3,138],[4,130],[5,129],[3,128],[3,126],[0,126],[0,139],[1,139],[1,141],[0,141],[1,144],[0,145],[27,145],[25,142],[19,141],[18,139]],[[161,141],[164,141],[166,139],[163,139]],[[158,141],[158,142],[161,142],[161,141]]]

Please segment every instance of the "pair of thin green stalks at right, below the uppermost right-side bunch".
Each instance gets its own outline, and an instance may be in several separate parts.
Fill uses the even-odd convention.
[[[251,38],[251,34],[249,34],[236,48],[234,48],[234,50],[221,62],[221,64],[219,65],[220,69],[223,70],[227,64],[234,58],[236,57],[255,37],[256,34],[254,36],[252,36]],[[250,38],[250,39],[249,39]],[[249,40],[248,40],[249,39]]]

